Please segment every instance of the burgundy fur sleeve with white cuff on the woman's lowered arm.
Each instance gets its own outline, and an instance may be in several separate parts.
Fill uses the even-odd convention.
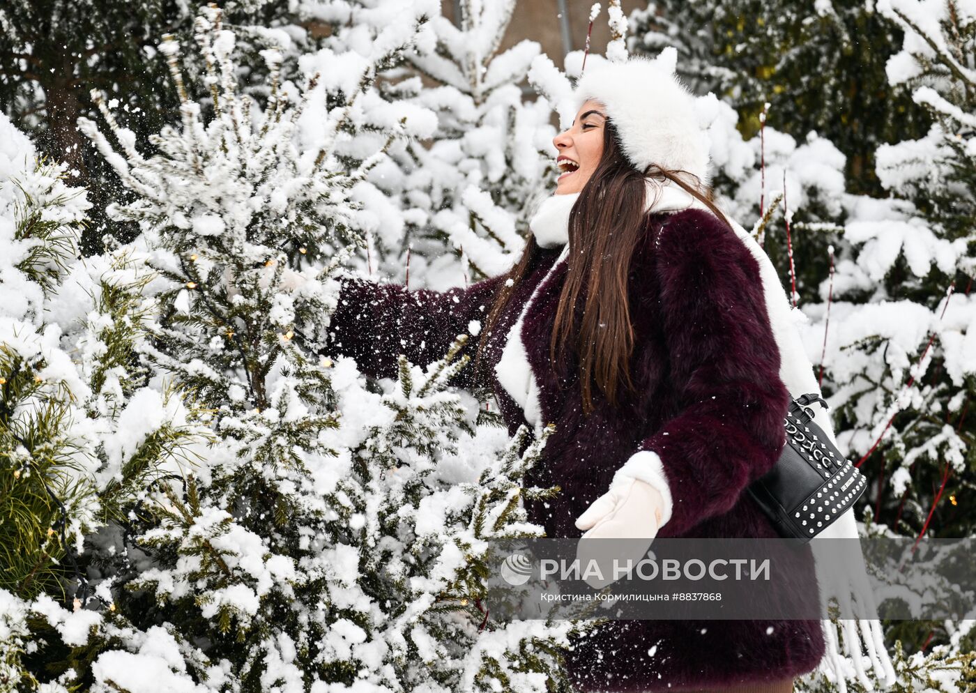
[[[660,230],[648,263],[660,286],[677,413],[645,431],[612,481],[637,478],[661,491],[670,536],[731,510],[776,464],[790,404],[758,264],[711,212],[683,217]]]

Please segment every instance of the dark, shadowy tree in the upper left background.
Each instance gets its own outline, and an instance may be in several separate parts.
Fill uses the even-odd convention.
[[[152,39],[167,32],[189,37],[196,4],[10,0],[0,6],[0,106],[42,152],[68,163],[75,184],[86,185],[93,207],[92,223],[83,229],[85,255],[102,252],[105,232],[131,237],[127,226],[107,223],[104,207],[117,192],[118,179],[92,155],[76,127],[80,115],[97,117],[88,92],[96,88],[118,100],[140,138],[175,121],[179,100]],[[242,40],[297,54],[319,42],[312,28],[322,4],[225,0],[222,9]],[[246,66],[252,73],[264,69],[257,51],[254,56],[257,61]]]

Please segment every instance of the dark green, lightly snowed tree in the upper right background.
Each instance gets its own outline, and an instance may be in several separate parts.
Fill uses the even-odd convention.
[[[748,138],[769,102],[767,128],[831,141],[846,156],[845,179],[856,193],[881,192],[879,144],[928,127],[906,90],[885,79],[884,61],[900,43],[899,27],[874,3],[856,0],[653,0],[630,13],[632,51],[653,55],[674,46],[681,76],[696,92],[732,105]]]

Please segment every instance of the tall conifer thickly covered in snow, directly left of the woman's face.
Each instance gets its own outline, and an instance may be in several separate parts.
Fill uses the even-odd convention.
[[[438,127],[429,147],[407,150],[414,166],[407,206],[424,212],[413,250],[432,265],[430,285],[462,275],[473,282],[511,265],[533,202],[555,171],[551,106],[545,98],[527,101],[522,90],[540,46],[525,40],[499,53],[515,2],[464,0],[460,26],[434,18],[436,44],[410,55],[437,85],[413,82],[414,101],[437,113]]]

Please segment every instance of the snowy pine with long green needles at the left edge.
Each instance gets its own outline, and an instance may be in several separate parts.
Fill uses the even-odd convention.
[[[67,539],[80,539],[96,505],[71,431],[71,389],[80,383],[57,327],[44,325],[45,300],[75,261],[89,203],[61,181],[64,165],[37,161],[3,115],[0,139],[0,589],[31,597],[59,589]]]

